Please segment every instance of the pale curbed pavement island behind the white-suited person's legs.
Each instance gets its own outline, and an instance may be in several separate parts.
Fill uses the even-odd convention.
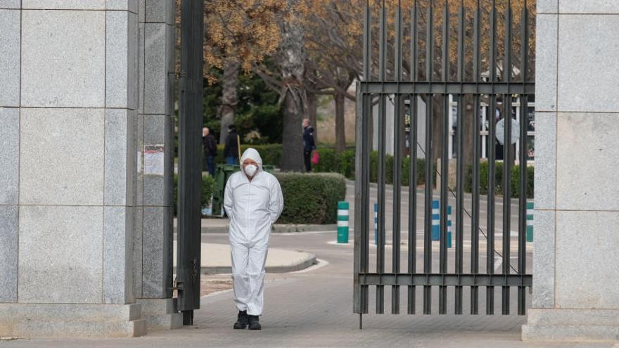
[[[202,243],[200,269],[203,274],[231,273],[230,246]],[[300,271],[316,264],[316,257],[308,252],[269,248],[267,273]],[[177,266],[177,242],[174,240],[174,267]]]

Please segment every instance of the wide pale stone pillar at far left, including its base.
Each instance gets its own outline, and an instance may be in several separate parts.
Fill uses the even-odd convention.
[[[0,336],[143,335],[137,1],[0,8]]]

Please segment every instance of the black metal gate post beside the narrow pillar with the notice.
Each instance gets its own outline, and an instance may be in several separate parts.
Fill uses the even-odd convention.
[[[181,3],[177,288],[184,325],[193,325],[193,309],[200,308],[203,11],[203,1]]]

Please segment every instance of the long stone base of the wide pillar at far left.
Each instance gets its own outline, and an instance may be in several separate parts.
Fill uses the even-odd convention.
[[[139,304],[0,304],[4,337],[138,337]]]

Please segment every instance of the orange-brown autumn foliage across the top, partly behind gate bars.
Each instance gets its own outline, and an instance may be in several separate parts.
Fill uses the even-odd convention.
[[[467,41],[466,55],[472,55],[472,23],[476,6],[482,8],[481,46],[482,56],[487,56],[489,46],[489,18],[492,3],[497,6],[497,39],[499,54],[502,51],[504,32],[504,11],[511,4],[513,10],[513,50],[521,49],[520,29],[524,0],[434,0],[432,1],[435,16],[435,42],[440,45],[442,40],[442,11],[445,1],[449,5],[450,27],[450,59],[457,59],[457,20],[459,8],[466,9]],[[428,0],[370,0],[372,8],[374,32],[378,33],[378,13],[382,4],[387,11],[386,18],[388,39],[393,43],[393,27],[395,25],[395,9],[402,7],[403,42],[410,40],[409,23],[412,6],[419,8],[419,28],[423,34],[426,25]],[[343,65],[357,70],[362,57],[363,18],[366,0],[205,0],[205,49],[204,60],[207,67],[222,68],[228,59],[238,61],[243,71],[249,72],[253,65],[262,62],[265,57],[274,55],[281,41],[281,21],[297,22],[302,25],[305,35],[305,46],[308,59],[316,65],[333,64],[333,57],[341,57]],[[527,1],[530,11],[530,22],[535,18],[535,0]],[[535,25],[530,25],[530,40],[528,50],[534,50]],[[375,34],[376,36],[376,34]],[[374,38],[376,39],[376,37]],[[418,42],[420,51],[425,49],[425,37]],[[407,46],[404,44],[404,46]],[[375,49],[377,48],[374,45]],[[404,50],[404,55],[407,52]],[[406,60],[406,57],[405,59]],[[357,63],[358,62],[358,63]],[[405,67],[406,69],[406,67]],[[208,76],[209,69],[205,69]]]

